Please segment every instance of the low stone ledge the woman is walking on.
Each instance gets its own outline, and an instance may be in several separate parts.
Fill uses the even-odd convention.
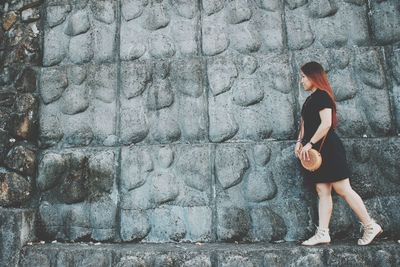
[[[398,241],[298,243],[49,243],[25,246],[19,266],[400,266]]]

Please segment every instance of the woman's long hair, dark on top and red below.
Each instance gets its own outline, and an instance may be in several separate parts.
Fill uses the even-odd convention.
[[[321,66],[321,64],[311,61],[301,66],[301,71],[308,77],[314,86],[328,93],[333,103],[332,128],[336,128],[336,100],[332,87],[328,81],[328,75],[326,74],[324,68]]]

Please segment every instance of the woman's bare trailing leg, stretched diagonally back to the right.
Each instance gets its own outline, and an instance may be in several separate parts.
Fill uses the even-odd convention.
[[[351,188],[349,179],[334,182],[332,186],[336,193],[349,204],[363,225],[371,222],[371,217],[365,208],[364,202],[353,188]]]

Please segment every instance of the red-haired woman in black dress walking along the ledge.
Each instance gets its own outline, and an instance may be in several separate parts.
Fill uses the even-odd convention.
[[[297,158],[308,159],[311,148],[319,149],[322,139],[322,165],[314,171],[302,167],[305,179],[315,184],[319,197],[319,226],[316,233],[302,244],[313,246],[329,243],[329,221],[332,215],[331,191],[342,197],[360,219],[364,234],[358,245],[368,245],[380,233],[382,228],[369,216],[360,196],[351,188],[350,171],[346,162],[343,144],[334,132],[336,128],[336,103],[326,72],[317,62],[309,62],[301,67],[301,83],[311,95],[301,110],[301,127],[295,147]]]

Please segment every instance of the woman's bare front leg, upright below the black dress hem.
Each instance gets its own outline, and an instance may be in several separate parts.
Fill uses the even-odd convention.
[[[318,202],[319,227],[328,229],[333,209],[332,184],[318,183],[316,184],[315,188],[319,197],[319,202]]]

